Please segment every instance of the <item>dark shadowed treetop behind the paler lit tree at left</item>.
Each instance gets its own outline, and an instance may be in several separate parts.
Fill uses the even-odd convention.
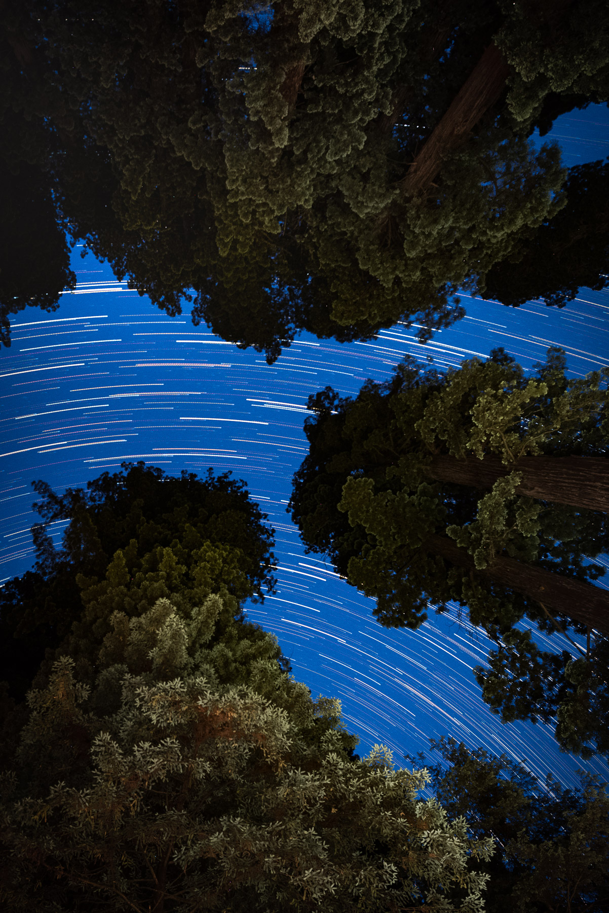
[[[125,463],[121,472],[88,482],[86,491],[68,488],[57,496],[44,482],[35,488],[42,496],[36,507],[42,522],[33,528],[36,566],[0,591],[3,677],[17,698],[30,687],[46,649],[55,650],[79,621],[81,590],[103,579],[121,549],[129,574],[158,575],[156,598],[167,595],[163,574],[171,580],[187,573],[197,550],[209,564],[207,594],[223,588],[239,601],[257,601],[274,586],[273,530],[230,473],[168,477],[143,463]],[[57,519],[69,520],[59,549],[46,531]],[[162,565],[162,549],[169,547],[178,570]]]

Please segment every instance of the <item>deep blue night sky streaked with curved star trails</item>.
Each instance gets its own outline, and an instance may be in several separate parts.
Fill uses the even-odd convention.
[[[607,108],[563,116],[552,139],[563,146],[566,165],[604,158]],[[376,341],[345,345],[303,334],[269,366],[262,355],[194,327],[188,312],[167,317],[118,282],[107,264],[90,254],[82,259],[82,249],[73,255],[76,291],[64,294],[53,313],[31,308],[16,315],[12,347],[0,352],[0,582],[32,565],[34,479],[61,493],[119,470],[122,460],[145,460],[176,475],[232,470],[276,534],[277,592],[263,605],[248,605],[248,616],[277,635],[294,677],[314,698],[341,699],[360,754],[383,743],[404,766],[405,752],[427,750],[428,737],[446,735],[505,751],[565,784],[575,782],[580,767],[607,779],[604,762],[563,754],[552,727],[504,726],[490,713],[471,672],[489,642],[456,609],[430,611],[418,631],[386,630],[371,600],[305,555],[285,508],[306,453],[308,394],[327,384],[356,394],[366,378],[389,377],[407,353],[423,361],[429,354],[446,368],[485,358],[500,345],[525,369],[543,361],[548,346],[561,345],[570,373],[583,376],[609,362],[609,291],[581,289],[563,310],[534,302],[514,310],[462,296],[467,317],[426,347],[416,341],[416,327],[400,325]],[[51,528],[57,541],[65,526]],[[604,563],[609,568],[609,558]],[[537,637],[569,648],[558,636]]]

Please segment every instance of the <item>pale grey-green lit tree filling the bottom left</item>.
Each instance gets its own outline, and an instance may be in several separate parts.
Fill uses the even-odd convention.
[[[235,638],[222,597],[179,583],[132,614],[120,552],[106,584],[93,675],[72,642],[28,694],[0,806],[7,911],[481,913],[469,862],[492,842],[420,801],[425,773],[384,747],[354,758],[339,702],[312,701],[273,636]]]

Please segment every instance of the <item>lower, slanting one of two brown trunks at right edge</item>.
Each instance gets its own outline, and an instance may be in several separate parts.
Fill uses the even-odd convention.
[[[451,564],[509,586],[554,612],[609,635],[609,592],[592,583],[574,580],[573,577],[565,577],[503,555],[479,571],[470,553],[459,548],[456,542],[446,536],[429,536],[422,548],[445,558]]]

